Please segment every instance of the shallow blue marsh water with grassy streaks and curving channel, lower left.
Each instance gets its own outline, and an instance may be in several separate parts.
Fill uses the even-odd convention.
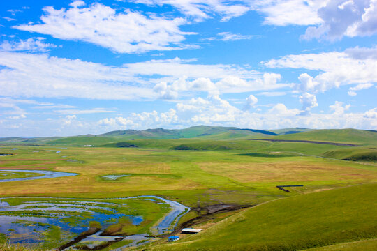
[[[6,199],[10,204],[4,201]],[[151,227],[152,234],[166,234],[171,231],[177,225],[179,218],[189,211],[188,207],[176,201],[148,195],[115,199],[2,198],[0,199],[0,233],[6,234],[10,243],[40,243],[43,242],[45,233],[56,226],[66,233],[65,242],[68,243],[78,234],[87,231],[91,221],[100,223],[101,229],[113,225],[119,218],[124,217],[129,218],[133,225],[140,225],[144,220],[140,215],[119,213],[119,210],[122,211],[122,206],[127,206],[126,200],[129,199],[141,199],[170,206],[170,211]],[[124,204],[121,204],[121,200],[124,200]],[[12,201],[17,201],[17,205],[13,206],[15,202]],[[88,236],[80,243],[95,245],[98,242],[114,241],[115,238],[119,238],[119,236],[99,236],[99,234],[101,232]],[[127,236],[124,240],[131,240],[132,243],[126,245],[134,246],[147,242],[150,238],[147,234],[136,234]]]

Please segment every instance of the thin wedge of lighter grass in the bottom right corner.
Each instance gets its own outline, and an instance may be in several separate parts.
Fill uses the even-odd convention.
[[[328,245],[320,248],[310,248],[304,251],[376,251],[377,239],[367,239],[362,241],[352,241],[348,243],[339,243]]]

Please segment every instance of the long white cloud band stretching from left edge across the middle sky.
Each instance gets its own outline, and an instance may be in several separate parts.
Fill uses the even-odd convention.
[[[217,95],[290,86],[279,83],[281,75],[276,73],[178,58],[115,67],[47,54],[0,52],[0,66],[1,95],[10,97],[153,100],[175,99],[182,92]]]

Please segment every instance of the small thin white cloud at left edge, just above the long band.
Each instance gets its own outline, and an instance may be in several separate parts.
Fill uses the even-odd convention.
[[[43,43],[45,38],[29,38],[19,41],[4,41],[0,45],[0,50],[6,52],[48,52],[50,48],[57,47],[50,43]]]

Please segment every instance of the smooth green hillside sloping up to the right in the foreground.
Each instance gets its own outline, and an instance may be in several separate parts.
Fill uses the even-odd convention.
[[[304,250],[377,237],[377,183],[261,204],[149,250]],[[145,247],[143,247],[145,248]]]

